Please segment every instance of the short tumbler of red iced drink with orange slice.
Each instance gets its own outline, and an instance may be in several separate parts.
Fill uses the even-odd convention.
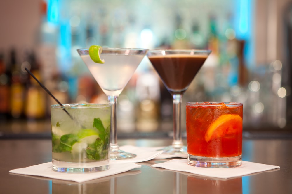
[[[241,165],[242,103],[186,104],[187,161],[199,167]]]

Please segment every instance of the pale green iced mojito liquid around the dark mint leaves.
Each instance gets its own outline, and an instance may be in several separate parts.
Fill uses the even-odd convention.
[[[97,163],[103,164],[109,162],[109,156],[105,156],[100,160],[89,159],[86,155],[86,149],[88,145],[93,144],[98,134],[84,134],[84,136],[72,145],[70,151],[58,151],[60,146],[61,138],[68,134],[80,134],[82,130],[95,131],[96,128],[93,126],[95,118],[99,118],[105,129],[109,129],[110,125],[110,107],[107,105],[79,105],[79,106],[68,106],[64,104],[65,109],[72,115],[73,120],[60,108],[60,106],[54,106],[51,108],[51,124],[52,124],[52,159],[53,165],[58,167],[58,163],[70,163],[71,167],[76,164],[80,166],[82,163],[86,165],[96,165]],[[81,108],[80,108],[81,106]],[[84,106],[84,108],[82,108]],[[109,136],[109,130],[107,130]],[[65,143],[70,139],[63,140]],[[109,138],[107,139],[109,141]],[[109,150],[108,150],[109,152]],[[58,161],[58,162],[57,162]],[[62,167],[65,167],[64,165]]]

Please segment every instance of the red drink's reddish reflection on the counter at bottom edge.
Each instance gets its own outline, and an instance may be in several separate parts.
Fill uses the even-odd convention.
[[[242,177],[234,179],[216,179],[187,176],[187,194],[191,193],[242,193]]]

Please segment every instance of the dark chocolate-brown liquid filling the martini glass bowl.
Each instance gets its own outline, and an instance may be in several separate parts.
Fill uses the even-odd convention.
[[[206,55],[149,56],[154,69],[172,94],[182,94],[204,64]]]

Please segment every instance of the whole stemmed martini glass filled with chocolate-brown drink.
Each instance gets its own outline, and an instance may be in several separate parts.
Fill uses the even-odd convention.
[[[210,50],[159,49],[147,53],[152,66],[173,97],[173,142],[161,149],[166,154],[187,154],[180,128],[182,98],[210,53]]]

